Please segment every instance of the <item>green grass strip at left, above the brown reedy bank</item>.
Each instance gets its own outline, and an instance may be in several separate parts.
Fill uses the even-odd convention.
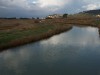
[[[51,26],[48,27],[43,27],[40,26],[37,29],[27,29],[27,30],[13,30],[9,32],[1,31],[0,32],[0,44],[2,43],[8,43],[9,41],[18,39],[18,38],[23,38],[26,36],[30,35],[39,35],[43,32],[48,31],[48,29],[52,29]]]

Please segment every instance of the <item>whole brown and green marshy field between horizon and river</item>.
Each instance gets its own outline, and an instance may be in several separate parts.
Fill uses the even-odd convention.
[[[73,25],[100,28],[100,20],[80,14],[58,19],[0,19],[0,50],[49,38]]]

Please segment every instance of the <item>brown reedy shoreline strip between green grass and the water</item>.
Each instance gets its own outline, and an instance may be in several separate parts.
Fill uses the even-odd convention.
[[[21,45],[25,45],[25,44],[32,43],[32,42],[34,43],[34,42],[37,42],[43,39],[47,39],[54,35],[68,31],[70,29],[72,29],[71,25],[63,25],[63,26],[59,25],[57,28],[54,28],[52,30],[49,29],[47,32],[43,32],[39,35],[37,34],[35,36],[34,35],[27,36],[21,39],[12,40],[9,43],[4,44],[4,45],[0,45],[0,51],[9,49],[9,48],[14,48],[14,47],[21,46]]]

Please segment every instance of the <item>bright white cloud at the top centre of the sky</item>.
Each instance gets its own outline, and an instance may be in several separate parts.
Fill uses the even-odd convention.
[[[62,9],[65,5],[68,5],[70,2],[71,0],[37,0],[32,3],[41,9],[45,9],[45,11],[55,12]]]

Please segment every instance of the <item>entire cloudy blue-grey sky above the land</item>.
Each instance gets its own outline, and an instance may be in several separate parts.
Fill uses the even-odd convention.
[[[44,17],[100,8],[100,0],[0,0],[0,17]]]

